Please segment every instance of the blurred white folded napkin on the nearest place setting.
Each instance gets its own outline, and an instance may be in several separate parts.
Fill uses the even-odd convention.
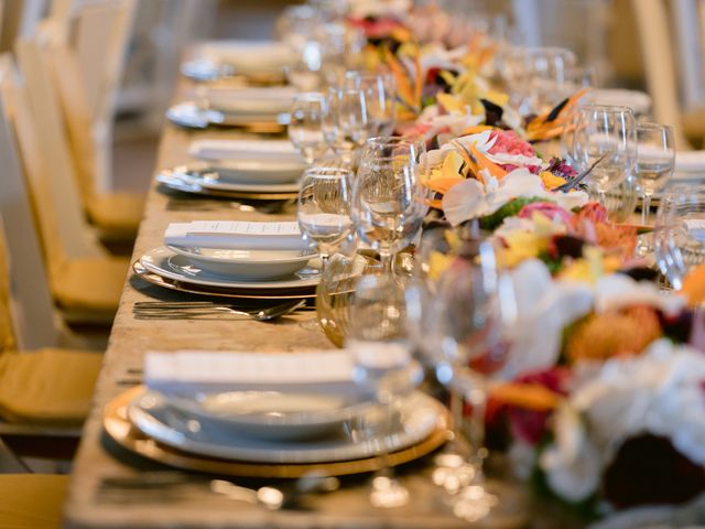
[[[163,393],[270,390],[357,395],[355,361],[345,350],[306,353],[148,353],[144,380]]]

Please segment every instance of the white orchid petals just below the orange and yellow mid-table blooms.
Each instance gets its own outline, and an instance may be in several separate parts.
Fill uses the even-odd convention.
[[[457,226],[465,220],[490,215],[513,198],[532,196],[555,202],[565,209],[581,207],[588,201],[587,194],[582,191],[573,193],[546,191],[540,176],[525,169],[516,169],[496,187],[489,188],[489,192],[475,179],[459,182],[443,196],[443,210],[448,222]]]

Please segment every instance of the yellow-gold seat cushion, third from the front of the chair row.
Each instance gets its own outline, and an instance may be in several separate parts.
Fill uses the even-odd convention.
[[[115,315],[128,268],[126,258],[70,259],[53,273],[56,302],[62,309]]]

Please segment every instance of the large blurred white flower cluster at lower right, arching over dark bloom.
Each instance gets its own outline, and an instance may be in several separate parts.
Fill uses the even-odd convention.
[[[577,376],[556,412],[555,441],[540,457],[557,494],[587,497],[621,444],[642,433],[665,436],[693,463],[705,464],[702,353],[663,338],[640,356],[578,365]]]

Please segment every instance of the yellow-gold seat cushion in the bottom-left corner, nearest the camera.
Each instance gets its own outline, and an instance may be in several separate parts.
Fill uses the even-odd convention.
[[[62,527],[68,476],[48,474],[0,475],[0,527],[53,529]]]

